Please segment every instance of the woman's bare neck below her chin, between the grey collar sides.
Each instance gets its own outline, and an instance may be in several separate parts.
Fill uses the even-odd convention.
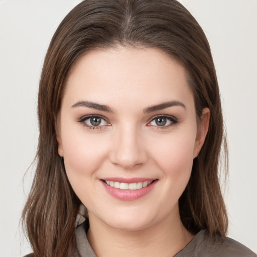
[[[193,238],[183,226],[179,212],[146,228],[124,231],[112,228],[89,215],[88,241],[98,257],[163,256],[170,257]]]

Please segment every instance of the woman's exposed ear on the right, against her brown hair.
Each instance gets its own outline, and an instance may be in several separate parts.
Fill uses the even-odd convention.
[[[194,158],[198,156],[205,137],[207,135],[209,129],[209,121],[210,121],[210,109],[204,108],[202,111],[200,124],[197,126],[197,134],[195,139],[195,147],[194,147]]]

